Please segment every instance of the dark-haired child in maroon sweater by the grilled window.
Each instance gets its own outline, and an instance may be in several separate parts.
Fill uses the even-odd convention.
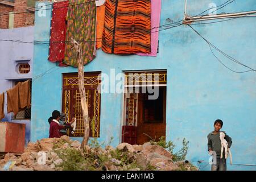
[[[49,138],[60,138],[63,135],[63,133],[61,133],[60,130],[71,128],[71,123],[75,121],[75,118],[72,118],[72,121],[70,123],[67,123],[67,125],[60,125],[59,121],[60,111],[54,110],[52,112],[52,117],[48,119],[48,122],[50,123]]]

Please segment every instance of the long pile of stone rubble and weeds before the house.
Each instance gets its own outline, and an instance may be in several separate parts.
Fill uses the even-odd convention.
[[[8,168],[13,171],[73,170],[74,168],[69,168],[70,162],[75,162],[73,166],[80,165],[80,168],[75,168],[77,170],[197,170],[187,161],[174,162],[169,151],[149,142],[133,146],[121,143],[117,148],[86,146],[82,154],[80,146],[79,141],[71,140],[65,135],[30,142],[23,154],[2,156],[0,170],[6,170],[7,163],[13,164]],[[71,151],[69,155],[77,152],[80,162],[71,161],[77,160],[77,156],[68,158],[67,151]]]

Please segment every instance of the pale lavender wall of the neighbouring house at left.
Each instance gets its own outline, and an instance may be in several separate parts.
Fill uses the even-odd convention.
[[[21,40],[22,42],[33,42],[34,26],[0,29],[1,40]],[[13,88],[15,81],[24,80],[32,77],[33,64],[32,43],[18,43],[0,41],[0,93]],[[30,72],[20,74],[17,64],[30,64]],[[2,121],[26,124],[26,144],[30,141],[30,119],[13,119],[13,113],[7,113],[7,94],[5,94],[5,118]]]

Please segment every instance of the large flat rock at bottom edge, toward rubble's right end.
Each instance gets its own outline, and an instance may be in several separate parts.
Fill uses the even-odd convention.
[[[158,170],[174,171],[178,169],[172,160],[155,158],[150,161],[150,165],[156,167]]]

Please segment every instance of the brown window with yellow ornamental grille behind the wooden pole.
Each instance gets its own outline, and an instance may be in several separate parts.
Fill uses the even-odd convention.
[[[84,87],[86,102],[88,104],[89,137],[100,137],[100,97],[98,86],[101,84],[101,72],[85,73],[84,74]],[[99,86],[100,88],[100,86]],[[84,136],[84,121],[82,118],[81,98],[78,86],[77,73],[64,73],[63,74],[63,101],[62,112],[68,118],[68,122],[73,117],[76,118],[76,131],[74,134],[68,132],[69,137],[83,137]]]

